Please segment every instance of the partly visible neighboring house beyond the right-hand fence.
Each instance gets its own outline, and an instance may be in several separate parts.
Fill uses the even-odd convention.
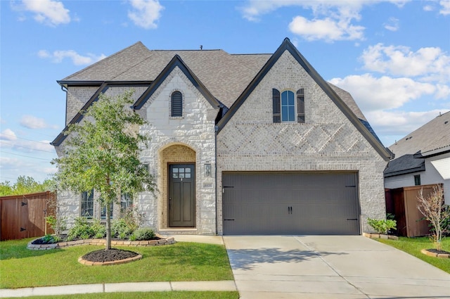
[[[385,188],[443,184],[450,204],[450,112],[439,114],[389,148],[395,159],[385,170]]]

